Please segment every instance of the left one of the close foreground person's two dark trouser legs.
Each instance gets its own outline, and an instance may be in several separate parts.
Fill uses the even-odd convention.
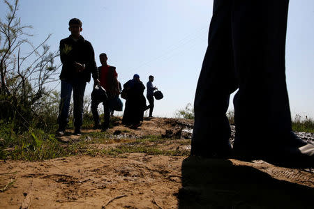
[[[231,9],[229,0],[214,1],[209,46],[197,82],[192,155],[225,155],[230,126],[225,116],[230,93],[237,89],[234,77]]]

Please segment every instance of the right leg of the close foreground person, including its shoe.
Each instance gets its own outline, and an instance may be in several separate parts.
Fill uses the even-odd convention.
[[[232,42],[239,76],[234,149],[271,162],[313,166],[314,146],[306,146],[291,127],[285,83],[288,3],[234,1]]]

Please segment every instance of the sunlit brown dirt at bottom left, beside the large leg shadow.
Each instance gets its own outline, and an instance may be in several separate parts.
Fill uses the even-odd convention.
[[[2,175],[0,184],[15,180],[0,194],[1,207],[19,208],[26,194],[31,208],[101,208],[107,203],[106,208],[154,208],[156,203],[176,208],[182,160],[133,153],[1,163],[1,172],[11,174]]]

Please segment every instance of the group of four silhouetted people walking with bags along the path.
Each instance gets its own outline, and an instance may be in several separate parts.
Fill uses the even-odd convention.
[[[82,31],[82,22],[73,18],[70,20],[70,36],[60,41],[60,57],[62,70],[61,79],[61,101],[59,106],[57,135],[63,136],[68,125],[68,115],[70,107],[70,98],[73,91],[73,116],[74,116],[74,134],[81,134],[83,118],[84,91],[87,82],[94,79],[94,90],[91,93],[91,112],[94,118],[94,129],[105,131],[110,125],[110,115],[113,111],[122,111],[123,103],[119,98],[121,84],[119,83],[116,68],[107,64],[107,54],[102,53],[99,56],[101,66],[97,68],[95,62],[94,49],[91,43],[85,40],[80,32]],[[146,105],[146,99],[143,92],[145,86],[140,81],[139,75],[134,75],[133,79],[124,84],[127,91],[126,108],[122,123],[136,128],[143,121],[144,111],[150,108],[149,116],[152,117],[154,108],[154,93],[156,87],[151,87],[154,77],[149,77],[149,91],[147,99],[149,106]],[[100,123],[98,114],[98,105],[103,103],[104,122]]]

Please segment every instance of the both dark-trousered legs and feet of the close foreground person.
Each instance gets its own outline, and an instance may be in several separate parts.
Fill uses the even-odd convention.
[[[314,146],[291,127],[285,82],[289,1],[215,0],[195,94],[191,155],[313,167]],[[236,134],[226,116],[234,96]]]

